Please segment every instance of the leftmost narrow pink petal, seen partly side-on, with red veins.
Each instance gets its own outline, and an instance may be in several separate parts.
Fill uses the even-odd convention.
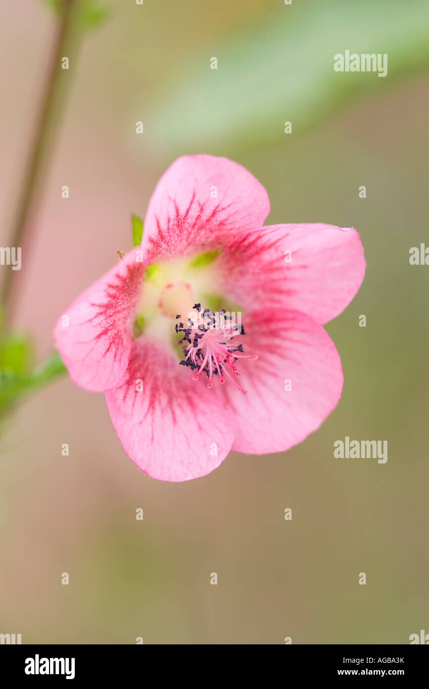
[[[56,346],[70,378],[85,390],[114,387],[127,369],[134,311],[147,265],[136,260],[142,253],[139,247],[126,254],[56,322]],[[64,316],[68,325],[63,325]]]

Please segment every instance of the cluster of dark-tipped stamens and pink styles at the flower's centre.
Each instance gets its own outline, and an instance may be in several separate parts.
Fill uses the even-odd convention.
[[[185,359],[180,364],[190,366],[192,371],[197,369],[193,380],[198,380],[204,371],[209,378],[208,388],[211,388],[213,376],[219,376],[221,383],[226,376],[246,395],[247,391],[231,373],[237,378],[241,375],[235,365],[238,359],[258,359],[258,356],[243,354],[243,346],[236,342],[238,336],[246,334],[241,322],[237,323],[224,309],[213,313],[209,309],[202,311],[201,305],[196,304],[193,311],[195,313],[191,311],[188,314],[186,326],[182,322],[176,323],[176,333],[184,333],[179,342],[190,345],[183,349]],[[180,314],[176,318],[181,318]]]

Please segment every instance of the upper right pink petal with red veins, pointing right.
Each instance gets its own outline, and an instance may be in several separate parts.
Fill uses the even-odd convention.
[[[321,223],[242,232],[213,264],[224,294],[242,307],[298,309],[322,324],[353,299],[365,266],[355,229]]]

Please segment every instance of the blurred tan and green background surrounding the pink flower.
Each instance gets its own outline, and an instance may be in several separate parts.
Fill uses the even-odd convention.
[[[144,217],[180,154],[242,163],[269,193],[269,224],[356,227],[368,267],[327,326],[342,400],[287,453],[231,453],[206,477],[158,482],[123,453],[103,395],[64,377],[25,400],[0,440],[0,632],[24,644],[408,644],[429,632],[429,267],[408,260],[428,241],[428,4],[107,5],[63,75],[14,274],[14,326],[36,360],[63,309],[129,250],[131,213]],[[7,246],[57,19],[41,0],[0,14]],[[334,72],[345,50],[387,53],[388,76]],[[388,440],[388,462],[335,460],[346,435]]]

